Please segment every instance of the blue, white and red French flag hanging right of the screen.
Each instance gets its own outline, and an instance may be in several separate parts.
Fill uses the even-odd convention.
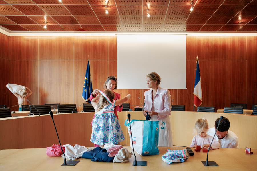
[[[202,104],[202,83],[199,69],[199,60],[196,64],[196,74],[194,82],[194,106],[198,107]]]

